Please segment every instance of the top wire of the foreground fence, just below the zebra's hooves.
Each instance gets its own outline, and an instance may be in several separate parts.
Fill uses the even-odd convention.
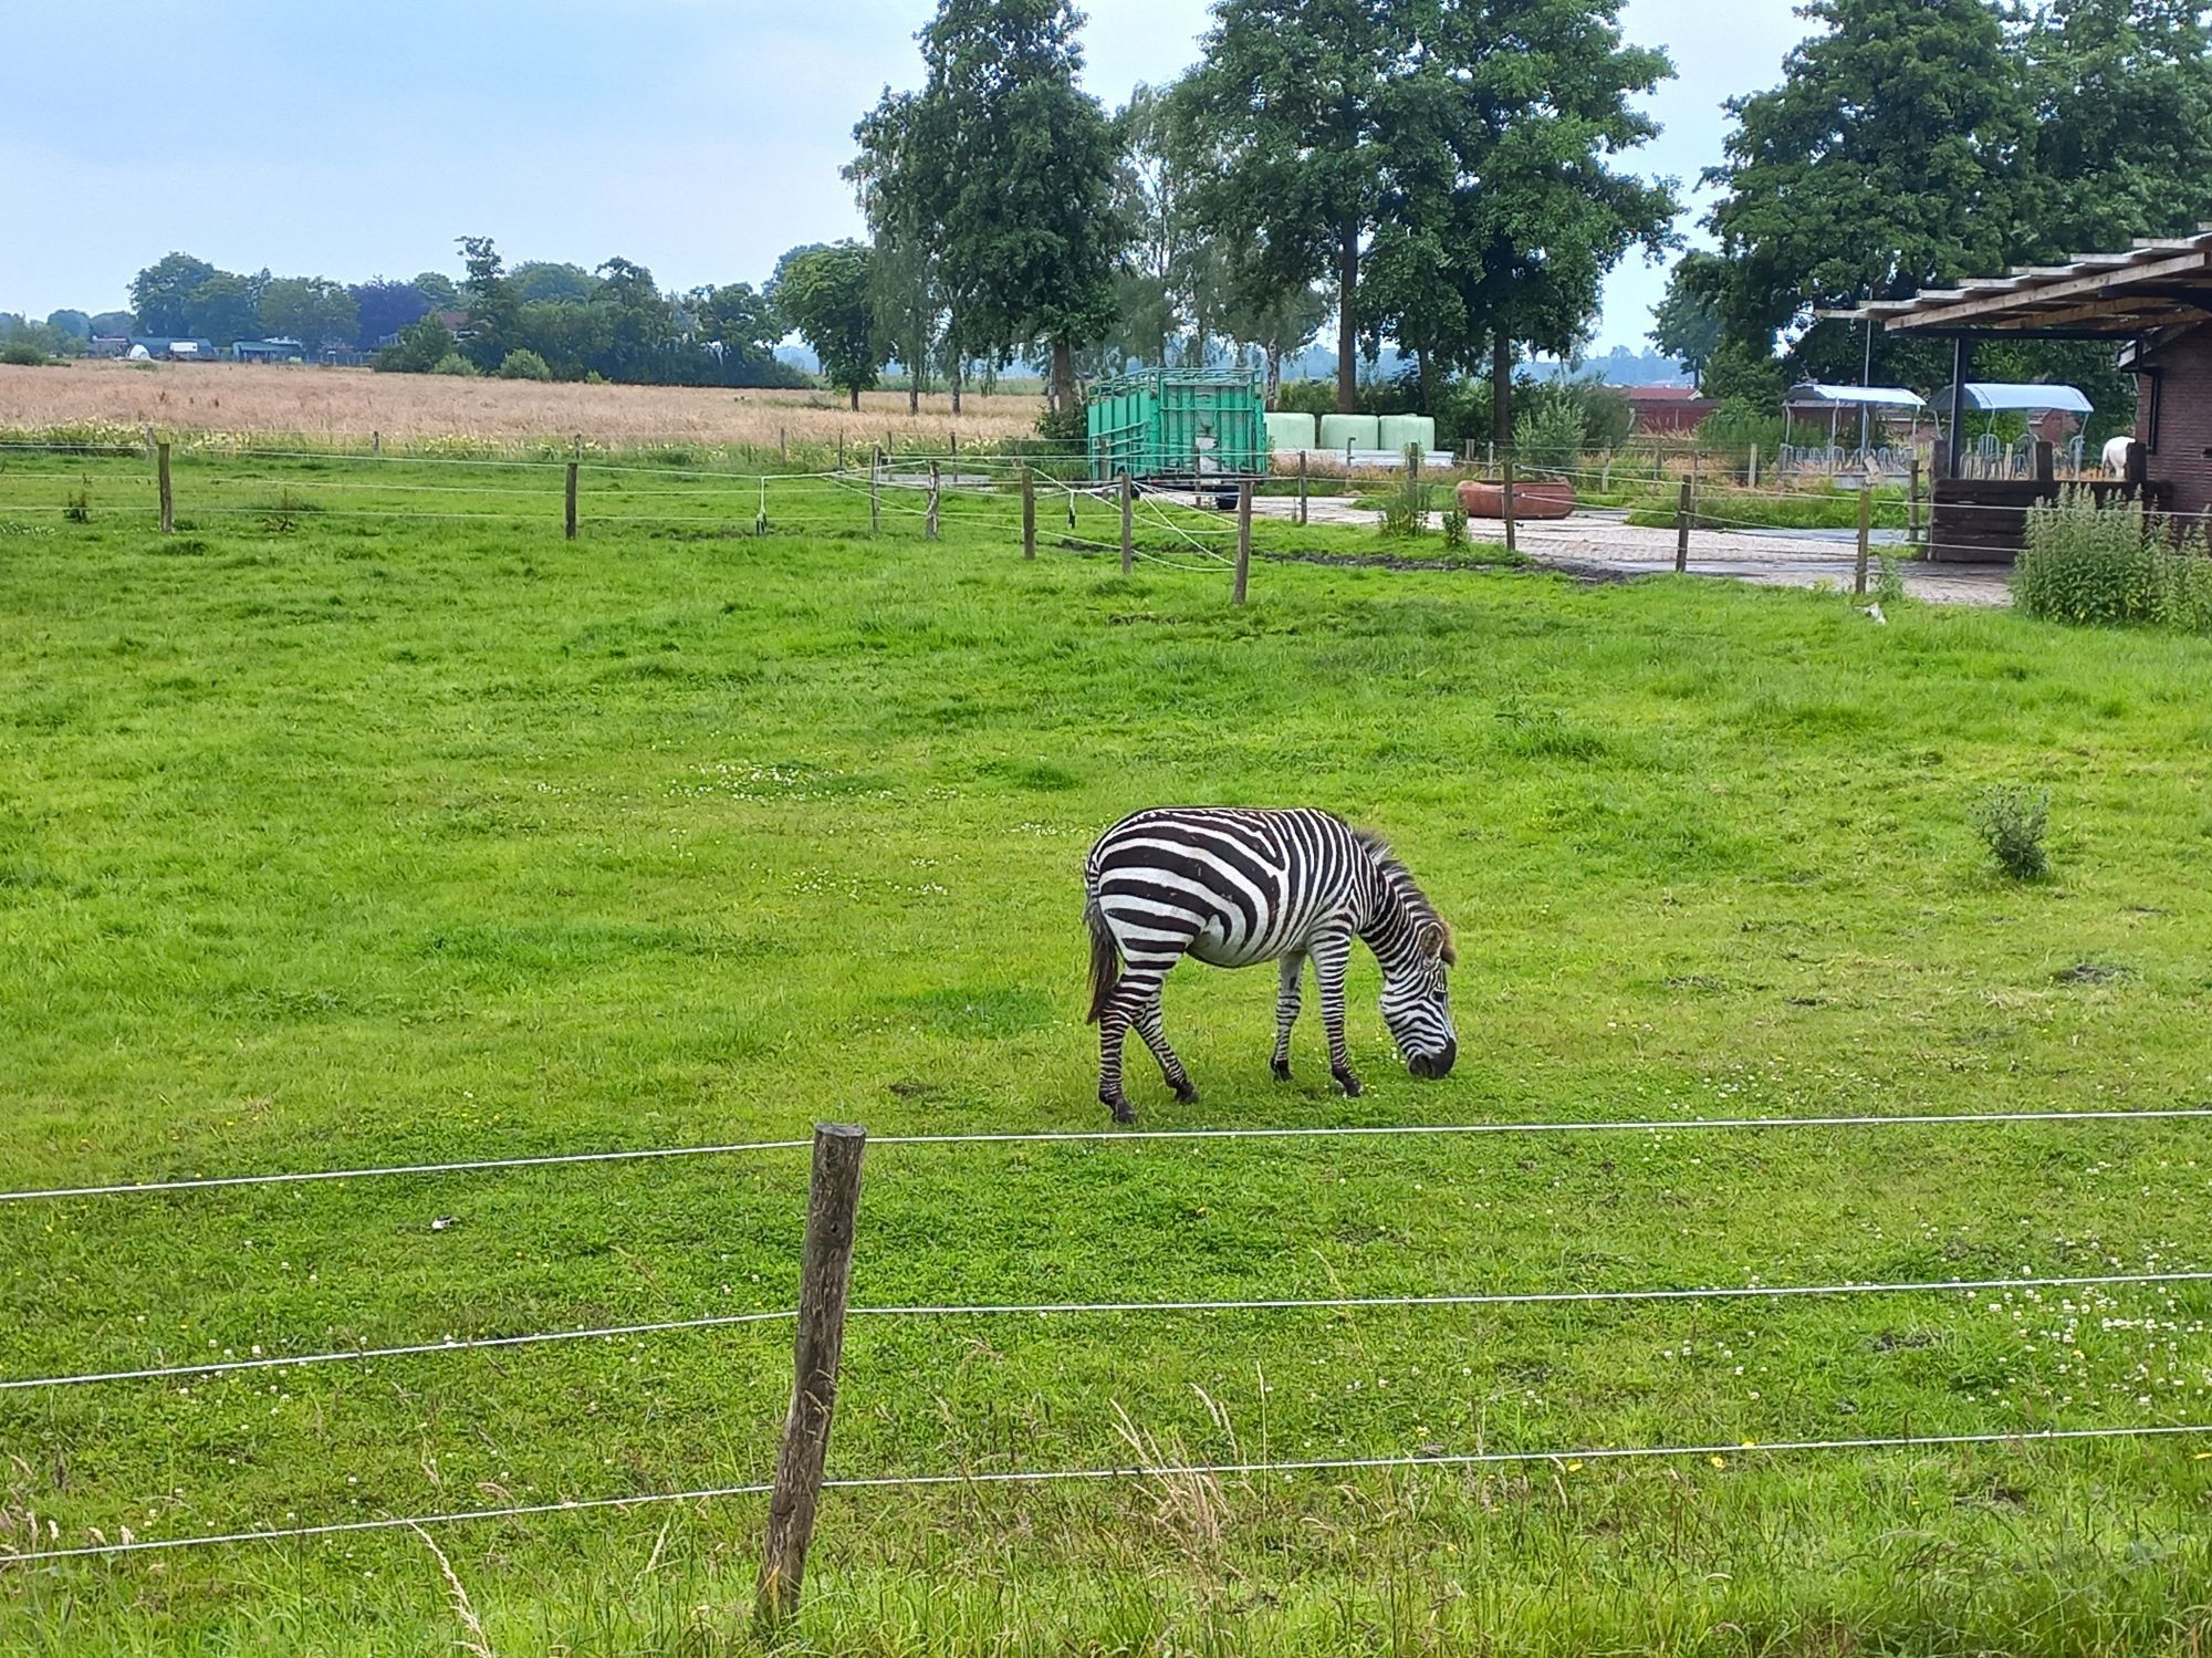
[[[1670,1116],[1615,1121],[1531,1123],[1327,1123],[1314,1127],[1106,1127],[1037,1130],[1002,1134],[878,1134],[869,1145],[1077,1145],[1130,1141],[1321,1141],[1321,1138],[1416,1138],[1482,1134],[1681,1134],[1703,1130],[1787,1127],[1938,1127],[2000,1123],[2161,1123],[2212,1119],[2212,1105],[2150,1105],[2090,1112],[1896,1112],[1869,1116]],[[217,1187],[303,1185],[312,1180],[376,1180],[405,1174],[482,1174],[491,1169],[538,1169],[580,1163],[644,1163],[686,1156],[734,1156],[739,1152],[796,1152],[812,1141],[741,1141],[730,1145],[668,1145],[617,1152],[562,1152],[555,1156],[489,1156],[465,1163],[396,1163],[358,1169],[292,1169],[283,1174],[217,1174],[179,1180],[119,1180],[113,1185],[38,1187],[0,1192],[0,1203],[44,1203],[55,1198],[119,1198],[153,1192],[206,1192]]]

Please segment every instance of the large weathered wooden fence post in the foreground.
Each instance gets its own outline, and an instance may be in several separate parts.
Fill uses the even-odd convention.
[[[814,1510],[830,1457],[836,1415],[836,1371],[845,1351],[845,1289],[852,1282],[852,1231],[860,1209],[860,1154],[867,1130],[823,1123],[814,1130],[814,1176],[807,1180],[807,1240],[799,1267],[799,1340],[792,1364],[792,1410],[776,1450],[776,1483],[768,1497],[768,1543],[754,1620],[776,1631],[799,1612],[799,1589],[814,1541]]]

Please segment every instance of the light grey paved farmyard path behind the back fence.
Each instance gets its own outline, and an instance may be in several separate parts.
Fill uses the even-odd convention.
[[[1374,528],[1380,513],[1345,500],[1312,497],[1310,522],[1358,524]],[[1296,517],[1298,504],[1285,495],[1263,495],[1252,502],[1265,517]],[[1502,535],[1498,524],[1475,522],[1484,539]],[[1885,533],[1876,533],[1882,542]],[[1896,544],[1896,533],[1887,539]],[[1619,513],[1582,511],[1573,517],[1515,526],[1515,544],[1535,564],[1582,577],[1628,579],[1666,575],[1674,568],[1674,531],[1639,528]],[[1770,588],[1809,588],[1851,584],[1856,555],[1854,531],[1692,531],[1690,575],[1714,575],[1732,581],[1754,581]],[[2013,601],[2002,566],[1922,566],[1907,562],[1905,590],[1929,604],[2004,606]]]

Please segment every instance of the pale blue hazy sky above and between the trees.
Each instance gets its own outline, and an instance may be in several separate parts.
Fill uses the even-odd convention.
[[[77,0],[9,18],[0,309],[124,307],[170,250],[279,276],[458,274],[622,254],[664,287],[759,283],[860,230],[838,168],[885,84],[920,75],[931,0]],[[1206,0],[1091,0],[1108,106],[1197,57]],[[1635,164],[1686,186],[1721,159],[1723,99],[1781,77],[1790,0],[1626,0],[1677,80]],[[49,66],[40,73],[33,66]],[[1697,214],[1683,230],[1694,232]],[[1639,347],[1666,272],[1624,265],[1597,345]]]

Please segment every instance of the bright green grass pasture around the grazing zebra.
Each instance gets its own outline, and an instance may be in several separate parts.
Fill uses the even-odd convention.
[[[161,537],[144,462],[0,469],[0,1185],[1106,1127],[1082,853],[1166,800],[1387,831],[1462,1057],[1409,1079],[1363,959],[1367,1096],[1316,1026],[1276,1085],[1272,977],[1183,968],[1203,1105],[1133,1043],[1146,1127],[2212,1099],[2212,641],[1482,555],[1232,610],[1197,517],[1124,579],[1006,502],[757,537],[650,475],[566,544],[557,478],[184,460]],[[2048,882],[1993,783],[2051,789]],[[854,1304],[2183,1271],[2208,1183],[2190,1121],[883,1145]],[[803,1198],[765,1152],[7,1203],[0,1377],[787,1309]],[[1559,1455],[832,1492],[792,1643],[2199,1654],[2212,1437],[1759,1446],[2212,1421],[2208,1302],[860,1318],[847,1477]],[[0,1391],[0,1552],[752,1483],[787,1388],[763,1324]],[[1632,1446],[1728,1450],[1582,1455]],[[750,1651],[761,1521],[0,1565],[0,1651]]]

